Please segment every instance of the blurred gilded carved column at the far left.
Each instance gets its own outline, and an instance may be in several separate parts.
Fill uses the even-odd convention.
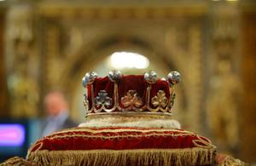
[[[13,6],[9,9],[6,31],[11,117],[38,115],[38,59],[34,44],[32,7],[24,4]]]

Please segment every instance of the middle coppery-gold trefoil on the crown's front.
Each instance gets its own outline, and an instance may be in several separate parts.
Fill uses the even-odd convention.
[[[143,105],[143,101],[140,97],[137,96],[136,90],[129,90],[125,97],[122,97],[121,103],[124,106],[130,106],[133,109],[135,106],[139,107]]]

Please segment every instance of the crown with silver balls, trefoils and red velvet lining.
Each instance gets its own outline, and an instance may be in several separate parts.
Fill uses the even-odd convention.
[[[155,72],[124,76],[113,70],[108,77],[87,72],[82,79],[85,89],[86,122],[123,123],[142,119],[172,119],[174,87],[181,81],[178,72],[158,79]]]

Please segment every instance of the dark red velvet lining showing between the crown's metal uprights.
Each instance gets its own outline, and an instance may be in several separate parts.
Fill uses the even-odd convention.
[[[108,97],[112,98],[112,101],[114,101],[114,94],[113,94],[113,85],[114,83],[111,82],[108,77],[99,77],[96,79],[95,83],[93,83],[93,88],[94,88],[94,98],[98,95],[100,90],[106,90],[108,92]],[[88,87],[88,100],[90,102],[91,106],[91,89],[90,85]],[[143,99],[143,107],[145,105],[145,98],[146,98],[146,92],[148,88],[148,83],[144,80],[143,75],[128,75],[128,76],[123,76],[121,80],[118,82],[118,89],[119,89],[119,106],[122,108],[125,108],[121,104],[121,98],[124,97],[129,90],[136,90],[137,91],[137,96]],[[156,106],[153,106],[151,104],[151,99],[157,95],[159,90],[163,90],[166,92],[166,98],[169,99],[170,93],[169,93],[169,86],[166,81],[162,80],[157,80],[156,83],[152,84],[152,88],[150,91],[150,107],[155,108]],[[110,106],[110,108],[112,108]],[[115,112],[119,112],[118,109],[115,110]],[[147,110],[145,111],[147,112]],[[159,111],[160,112],[160,111]]]

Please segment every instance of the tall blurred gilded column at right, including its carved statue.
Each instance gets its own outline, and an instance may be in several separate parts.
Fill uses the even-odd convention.
[[[207,122],[212,141],[230,152],[239,146],[239,112],[241,108],[241,78],[237,66],[240,59],[239,10],[236,5],[216,3],[212,7],[212,38]],[[235,70],[234,70],[235,69]],[[214,117],[214,118],[213,118]],[[233,153],[235,154],[235,153]]]

